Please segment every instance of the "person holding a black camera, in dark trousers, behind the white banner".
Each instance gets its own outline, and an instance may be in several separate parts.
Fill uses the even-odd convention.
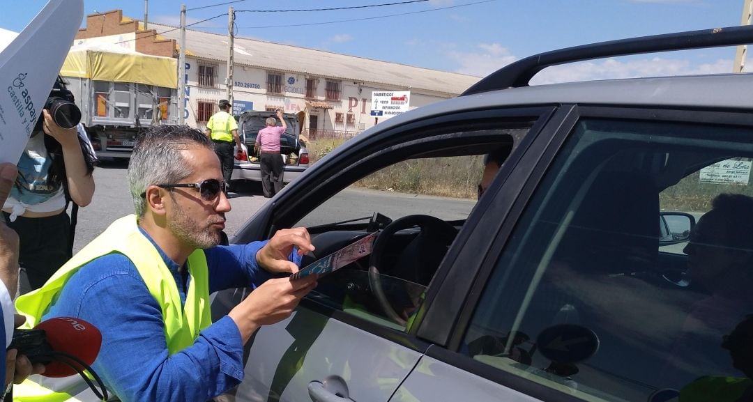
[[[17,163],[16,182],[2,207],[8,227],[20,238],[21,275],[29,282],[21,282],[22,294],[40,288],[72,257],[68,201],[87,206],[94,194],[96,157],[62,78],[50,99]]]

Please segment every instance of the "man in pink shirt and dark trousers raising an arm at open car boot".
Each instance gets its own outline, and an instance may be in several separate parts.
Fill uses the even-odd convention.
[[[274,117],[267,117],[267,126],[260,129],[259,135],[256,136],[256,149],[260,150],[261,188],[266,198],[272,198],[282,190],[282,174],[285,172],[280,154],[280,136],[288,129],[288,124],[285,123],[279,109],[277,118],[282,122],[282,126],[277,126]]]

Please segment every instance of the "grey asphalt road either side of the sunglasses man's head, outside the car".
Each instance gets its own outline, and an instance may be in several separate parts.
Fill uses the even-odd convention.
[[[127,167],[124,162],[105,160],[94,169],[96,190],[92,203],[78,210],[74,253],[102,233],[112,221],[133,214],[133,200],[126,182]],[[230,205],[233,209],[226,215],[227,235],[232,237],[266,202],[267,199],[261,193],[261,185],[243,186],[242,193],[231,192]]]

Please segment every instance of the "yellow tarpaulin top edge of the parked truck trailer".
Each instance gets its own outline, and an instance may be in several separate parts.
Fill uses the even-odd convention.
[[[96,81],[134,82],[178,87],[178,61],[171,57],[102,50],[72,50],[62,63],[60,75]]]

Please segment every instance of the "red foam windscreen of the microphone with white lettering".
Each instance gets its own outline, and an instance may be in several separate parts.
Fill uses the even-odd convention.
[[[42,321],[35,329],[44,330],[47,334],[47,343],[53,351],[65,352],[80,358],[88,365],[94,363],[99,347],[102,346],[102,333],[87,321],[81,318],[56,317]],[[81,370],[84,367],[77,367]],[[67,377],[76,374],[76,371],[67,364],[53,361],[44,367],[42,376]]]

